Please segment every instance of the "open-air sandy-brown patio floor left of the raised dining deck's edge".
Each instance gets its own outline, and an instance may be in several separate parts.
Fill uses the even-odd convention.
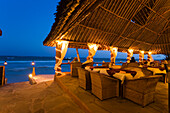
[[[56,82],[0,87],[0,113],[82,113]]]

